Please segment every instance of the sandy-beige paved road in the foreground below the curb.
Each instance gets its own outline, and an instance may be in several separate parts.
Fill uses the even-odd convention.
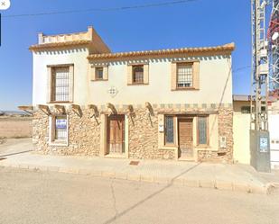
[[[271,195],[0,167],[0,223],[279,223]]]

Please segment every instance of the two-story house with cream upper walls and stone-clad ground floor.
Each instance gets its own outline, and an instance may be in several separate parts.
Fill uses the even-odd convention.
[[[88,27],[30,49],[37,150],[232,161],[233,43],[113,53]]]

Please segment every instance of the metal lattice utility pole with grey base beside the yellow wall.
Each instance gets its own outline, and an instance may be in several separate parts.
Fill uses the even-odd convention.
[[[270,172],[268,132],[268,42],[265,38],[265,0],[251,0],[252,72],[250,96],[251,165],[260,172]]]

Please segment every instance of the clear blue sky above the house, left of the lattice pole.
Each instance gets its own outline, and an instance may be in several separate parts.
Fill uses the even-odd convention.
[[[87,31],[88,25],[93,25],[113,52],[235,42],[233,94],[249,94],[250,0],[191,0],[160,7],[5,17],[169,1],[172,0],[11,0],[11,7],[0,11],[0,111],[32,104],[33,58],[28,48],[37,42],[38,32],[48,35]]]

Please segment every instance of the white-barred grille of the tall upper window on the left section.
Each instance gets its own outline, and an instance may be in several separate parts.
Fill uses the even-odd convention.
[[[69,101],[69,73],[70,67],[55,67],[53,69],[53,85],[54,101]]]

